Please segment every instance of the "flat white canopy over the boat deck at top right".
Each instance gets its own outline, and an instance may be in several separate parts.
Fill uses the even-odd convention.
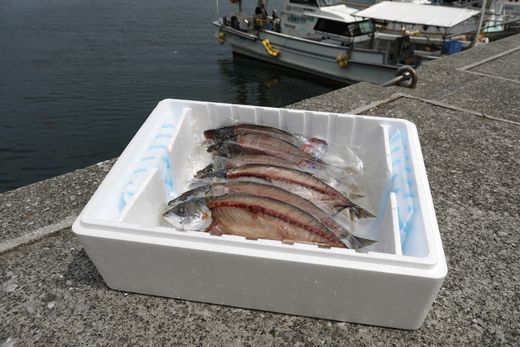
[[[387,22],[451,28],[479,12],[480,11],[466,8],[384,1],[356,12],[353,15]]]

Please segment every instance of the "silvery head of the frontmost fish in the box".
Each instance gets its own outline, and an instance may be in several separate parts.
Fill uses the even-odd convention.
[[[211,225],[211,210],[203,197],[194,197],[170,208],[164,219],[182,230],[205,231]]]

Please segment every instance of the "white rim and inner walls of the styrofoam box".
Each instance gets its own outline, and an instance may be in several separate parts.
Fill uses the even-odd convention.
[[[320,137],[331,150],[353,149],[363,161],[364,188],[377,215],[369,236],[379,242],[362,251],[320,248],[180,231],[164,222],[168,200],[185,191],[193,174],[211,159],[201,146],[202,132],[236,122]],[[417,130],[400,119],[163,100],[101,183],[73,230],[113,240],[418,277],[443,278],[447,272]]]

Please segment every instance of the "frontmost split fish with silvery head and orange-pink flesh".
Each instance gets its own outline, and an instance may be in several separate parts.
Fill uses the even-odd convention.
[[[168,210],[164,218],[176,227],[215,235],[346,247],[307,212],[279,200],[251,194],[192,198]]]

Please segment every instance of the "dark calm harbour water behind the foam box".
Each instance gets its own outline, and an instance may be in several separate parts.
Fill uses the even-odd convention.
[[[233,59],[214,18],[207,0],[0,0],[0,191],[119,155],[165,98],[279,107],[338,87]]]

